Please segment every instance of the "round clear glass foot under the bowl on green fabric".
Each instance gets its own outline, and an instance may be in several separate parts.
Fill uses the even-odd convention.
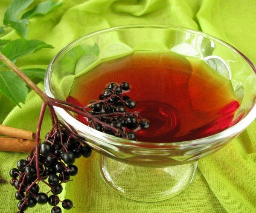
[[[192,182],[197,164],[152,168],[123,164],[100,156],[102,178],[120,195],[144,202],[163,201],[181,193]]]

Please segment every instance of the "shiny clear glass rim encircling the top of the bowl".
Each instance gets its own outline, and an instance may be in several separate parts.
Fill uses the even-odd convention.
[[[113,31],[119,31],[119,30],[123,30],[123,29],[135,29],[135,28],[159,28],[159,29],[176,29],[176,30],[180,30],[183,32],[190,32],[196,35],[201,35],[203,37],[207,37],[211,40],[214,40],[218,43],[221,43],[224,46],[227,46],[227,48],[229,48],[230,50],[232,50],[233,52],[236,52],[236,54],[240,55],[249,65],[250,67],[253,69],[255,75],[256,75],[256,66],[252,63],[252,61],[250,61],[243,53],[241,53],[238,49],[236,49],[235,47],[233,47],[232,45],[230,45],[229,43],[218,39],[217,37],[214,37],[212,35],[209,35],[207,33],[201,32],[201,31],[197,31],[194,29],[189,29],[189,28],[184,28],[184,27],[180,27],[180,26],[171,26],[171,25],[158,25],[158,24],[129,24],[129,25],[121,25],[121,26],[114,26],[114,27],[110,27],[110,28],[105,28],[105,29],[101,29],[95,32],[91,32],[88,33],[84,36],[81,36],[79,38],[77,38],[76,40],[72,41],[71,43],[67,44],[66,46],[64,46],[64,48],[62,48],[56,55],[55,57],[52,59],[52,61],[49,63],[49,66],[47,68],[47,72],[44,78],[44,89],[47,95],[49,95],[49,97],[51,98],[55,98],[54,95],[52,94],[51,91],[51,87],[50,87],[50,76],[51,76],[51,69],[52,69],[52,65],[54,64],[55,60],[60,57],[62,54],[64,54],[68,49],[71,49],[73,46],[75,46],[77,43],[79,43],[80,41],[83,40],[87,40],[91,37],[95,37],[97,35],[102,35],[108,32],[113,32]],[[254,99],[255,101],[255,99]],[[254,121],[254,119],[256,118],[256,103],[254,103],[254,105],[250,108],[249,112],[247,113],[247,115],[242,118],[239,122],[237,122],[236,124],[234,124],[232,127],[227,128],[226,130],[223,130],[221,132],[218,132],[214,135],[210,135],[204,138],[198,138],[198,139],[194,139],[194,140],[189,140],[189,141],[177,141],[177,142],[146,142],[146,141],[132,141],[132,140],[128,140],[125,138],[119,138],[113,135],[109,135],[103,132],[100,132],[98,130],[95,130],[91,127],[88,127],[86,124],[83,124],[82,122],[78,121],[76,118],[74,118],[73,116],[71,116],[66,110],[61,109],[59,107],[54,107],[56,114],[58,115],[58,117],[60,117],[61,119],[63,119],[65,122],[67,122],[68,120],[68,124],[70,124],[71,126],[76,126],[79,127],[81,126],[81,131],[85,132],[86,134],[88,134],[87,132],[91,132],[91,134],[93,135],[88,135],[91,137],[90,138],[105,138],[106,139],[106,143],[108,144],[130,144],[130,145],[142,145],[147,146],[149,145],[149,147],[154,147],[155,148],[163,148],[163,147],[187,147],[187,146],[191,146],[191,145],[205,145],[205,144],[212,144],[213,142],[215,143],[216,141],[219,141],[221,139],[233,136],[233,135],[237,135],[239,134],[239,132],[242,132],[247,126],[250,125],[250,123],[252,123]],[[88,130],[88,131],[86,131]],[[98,135],[98,136],[95,136]]]

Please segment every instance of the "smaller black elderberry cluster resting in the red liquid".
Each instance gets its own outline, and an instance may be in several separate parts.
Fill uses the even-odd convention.
[[[149,123],[138,112],[131,111],[136,107],[136,102],[124,95],[129,89],[127,82],[110,83],[99,95],[99,101],[91,101],[92,104],[89,105],[88,111],[91,115],[105,124],[110,124],[114,129],[100,123],[91,123],[90,126],[110,135],[136,140],[134,130],[146,129]]]

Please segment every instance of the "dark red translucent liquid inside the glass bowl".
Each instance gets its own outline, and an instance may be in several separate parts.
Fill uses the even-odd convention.
[[[175,53],[135,52],[96,66],[76,78],[68,101],[98,99],[108,83],[130,84],[136,111],[150,127],[138,141],[177,142],[203,138],[232,125],[239,103],[229,80],[197,59]]]

